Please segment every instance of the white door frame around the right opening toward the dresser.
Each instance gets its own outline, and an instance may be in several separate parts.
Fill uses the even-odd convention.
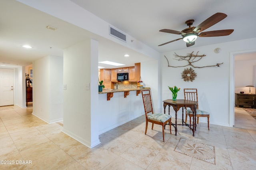
[[[229,90],[229,125],[233,127],[235,125],[235,79],[234,79],[234,69],[235,69],[235,55],[246,54],[246,53],[256,53],[256,49],[250,49],[245,51],[234,51],[230,52],[230,90]]]

